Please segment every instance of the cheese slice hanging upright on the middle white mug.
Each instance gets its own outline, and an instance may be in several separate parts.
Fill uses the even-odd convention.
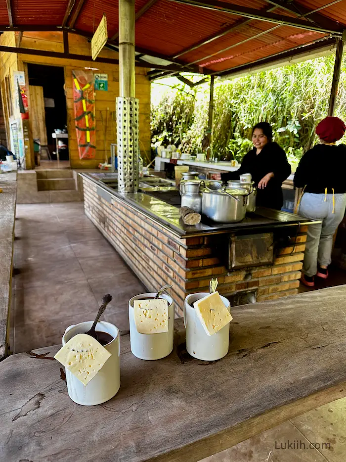
[[[168,302],[165,299],[134,300],[134,322],[141,334],[168,332]]]

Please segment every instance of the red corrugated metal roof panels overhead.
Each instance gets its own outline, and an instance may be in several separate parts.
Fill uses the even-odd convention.
[[[136,0],[136,13],[148,0]],[[181,1],[181,0],[180,0]],[[331,0],[295,0],[304,11],[315,10]],[[285,18],[297,18],[299,13],[287,10],[294,8],[286,2],[285,8],[274,7],[265,0],[223,0],[232,5],[258,10],[266,10]],[[15,26],[61,26],[68,0],[12,0],[12,16]],[[72,14],[79,1],[75,1]],[[86,0],[73,26],[83,34],[92,35],[102,14],[107,16],[108,34],[113,37],[118,32],[118,0]],[[339,30],[346,28],[346,0],[322,9],[317,16],[332,20]],[[9,24],[6,0],[0,0],[0,24],[3,30]],[[311,15],[311,20],[315,19]],[[67,21],[67,26],[69,25]],[[220,32],[246,21],[235,30],[213,40]],[[243,64],[275,55],[297,46],[313,43],[329,33],[316,32],[289,25],[279,25],[260,19],[249,19],[241,14],[230,14],[221,10],[200,8],[196,5],[158,0],[136,21],[136,46],[146,54],[152,53],[168,60],[178,55],[182,63],[196,63],[209,71],[221,72]],[[205,43],[207,42],[207,43]],[[240,44],[239,44],[240,43]],[[198,45],[198,46],[197,46]],[[191,48],[194,49],[191,50]],[[203,69],[202,69],[203,70]]]

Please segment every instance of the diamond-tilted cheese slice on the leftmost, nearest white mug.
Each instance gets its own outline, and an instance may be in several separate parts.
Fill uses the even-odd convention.
[[[54,358],[87,385],[102,368],[111,353],[87,334],[72,337]]]

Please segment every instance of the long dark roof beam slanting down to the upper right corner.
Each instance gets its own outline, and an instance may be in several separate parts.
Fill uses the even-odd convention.
[[[333,34],[341,37],[342,30],[340,25],[335,22],[335,26],[332,28],[325,28],[314,23],[310,23],[304,19],[291,18],[289,16],[283,16],[281,14],[264,12],[263,10],[248,8],[245,6],[235,5],[221,0],[171,0],[178,3],[199,6],[201,8],[207,8],[214,11],[221,11],[229,14],[235,14],[238,16],[244,16],[251,19],[259,19],[261,21],[273,22],[282,26],[292,26],[299,29],[322,32],[325,34]]]

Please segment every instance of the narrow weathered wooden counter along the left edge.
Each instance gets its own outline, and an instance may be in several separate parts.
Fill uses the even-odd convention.
[[[0,361],[7,354],[17,173],[0,175]]]

